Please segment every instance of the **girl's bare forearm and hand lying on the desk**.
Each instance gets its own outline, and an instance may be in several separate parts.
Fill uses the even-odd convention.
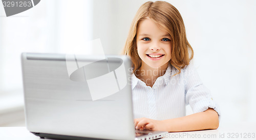
[[[212,109],[181,118],[168,120],[152,120],[147,118],[135,119],[136,129],[159,130],[168,132],[195,131],[217,129],[219,127],[218,113]]]

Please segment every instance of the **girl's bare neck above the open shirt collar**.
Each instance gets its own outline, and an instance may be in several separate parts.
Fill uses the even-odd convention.
[[[152,68],[142,63],[139,70],[135,72],[135,75],[137,76],[137,78],[144,81],[146,83],[146,86],[153,87],[156,79],[164,75],[167,67],[168,67],[168,63],[164,64],[159,68]]]

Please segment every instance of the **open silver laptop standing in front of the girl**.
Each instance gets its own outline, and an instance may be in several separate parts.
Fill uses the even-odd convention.
[[[157,139],[135,130],[125,55],[22,53],[26,127],[51,139]]]

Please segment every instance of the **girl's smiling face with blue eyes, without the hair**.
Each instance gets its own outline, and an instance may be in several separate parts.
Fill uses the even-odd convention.
[[[141,67],[167,68],[171,59],[170,35],[150,18],[139,22],[136,37]]]

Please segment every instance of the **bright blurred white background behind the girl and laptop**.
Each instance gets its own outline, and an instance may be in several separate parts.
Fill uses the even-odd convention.
[[[25,126],[20,53],[120,54],[142,0],[42,0],[6,17],[0,4],[0,127]],[[193,63],[225,123],[256,123],[256,1],[167,1],[181,13]],[[187,107],[187,114],[191,114]]]

